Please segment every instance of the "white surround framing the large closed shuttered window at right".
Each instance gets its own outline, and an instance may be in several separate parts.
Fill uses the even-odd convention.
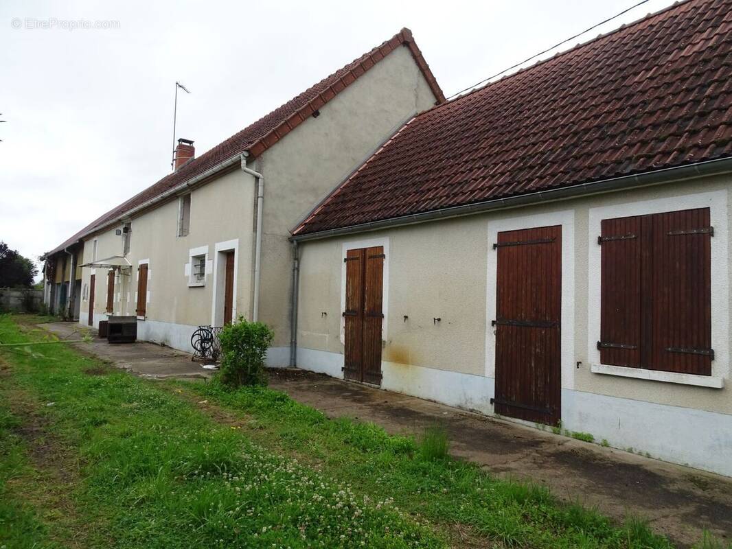
[[[587,358],[593,373],[625,378],[638,378],[682,385],[695,385],[721,389],[724,378],[730,375],[729,346],[729,265],[728,265],[728,215],[727,191],[717,190],[710,193],[695,193],[648,201],[636,201],[600,206],[589,210],[587,268],[589,272],[587,299]],[[643,368],[603,365],[600,362],[600,269],[602,265],[601,247],[597,244],[601,223],[605,219],[630,217],[635,215],[678,212],[684,209],[709,208],[709,221],[714,227],[712,237],[712,376],[645,370]]]

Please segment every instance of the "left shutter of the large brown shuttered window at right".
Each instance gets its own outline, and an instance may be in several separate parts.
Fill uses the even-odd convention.
[[[641,366],[641,225],[641,216],[602,220],[602,364]]]

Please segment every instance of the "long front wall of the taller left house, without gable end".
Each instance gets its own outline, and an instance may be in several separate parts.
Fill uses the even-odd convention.
[[[236,247],[236,314],[250,314],[250,264],[252,263],[254,178],[233,171],[191,193],[190,231],[177,236],[179,202],[163,206],[132,219],[130,252],[132,269],[118,272],[115,280],[114,314],[135,315],[138,265],[147,263],[148,302],[144,322],[157,323],[155,329],[138,326],[141,339],[187,348],[189,326],[212,324],[214,269],[217,269],[217,243],[228,242],[225,250]],[[122,225],[97,234],[97,261],[122,255],[122,236],[115,234]],[[92,261],[94,238],[84,243],[84,263]],[[221,247],[221,246],[220,246]],[[190,286],[190,251],[206,253],[206,282]],[[83,285],[96,272],[95,322],[104,318],[107,299],[107,269],[83,269]],[[218,273],[217,273],[218,274]],[[89,318],[89,291],[81,302],[81,321]],[[221,296],[219,292],[219,297]],[[97,316],[98,315],[98,316]],[[170,325],[170,326],[167,326]],[[167,326],[167,327],[166,327]],[[189,336],[190,337],[190,336]]]

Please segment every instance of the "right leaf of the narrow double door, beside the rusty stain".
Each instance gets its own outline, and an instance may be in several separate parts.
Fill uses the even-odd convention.
[[[384,294],[384,247],[366,248],[363,381],[381,384],[381,324]]]

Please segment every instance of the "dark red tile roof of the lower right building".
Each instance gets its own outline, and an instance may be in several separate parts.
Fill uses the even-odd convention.
[[[417,115],[294,234],[732,155],[732,0],[690,0]]]

